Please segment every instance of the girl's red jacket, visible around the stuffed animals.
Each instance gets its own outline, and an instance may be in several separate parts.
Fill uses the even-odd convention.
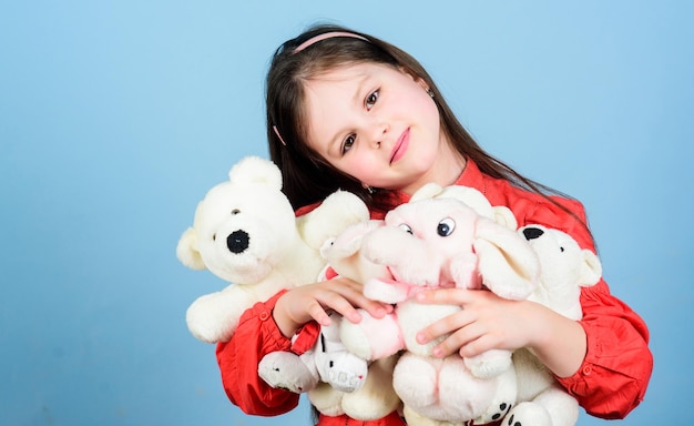
[[[572,235],[581,247],[594,251],[591,235],[574,217],[541,195],[482,174],[472,161],[468,161],[456,184],[474,187],[492,205],[511,209],[519,227],[540,224],[559,229]],[[392,193],[389,199],[392,206],[408,201],[402,193]],[[554,200],[585,221],[581,203],[561,197]],[[265,354],[292,348],[289,339],[272,320],[277,297],[246,311],[233,338],[217,346],[224,389],[232,403],[248,414],[274,416],[287,413],[299,400],[299,395],[272,388],[257,375],[258,362]],[[589,414],[623,418],[641,403],[651,377],[653,356],[647,346],[649,331],[636,313],[610,294],[604,281],[582,288],[581,306],[583,320],[580,323],[585,329],[588,353],[573,376],[558,379]],[[307,338],[297,342],[294,349],[302,352],[312,344]]]

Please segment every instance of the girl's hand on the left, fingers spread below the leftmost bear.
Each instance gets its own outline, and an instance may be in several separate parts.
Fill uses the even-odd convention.
[[[358,307],[377,318],[392,311],[392,306],[364,296],[361,284],[336,277],[286,292],[277,300],[273,317],[282,334],[292,337],[299,327],[312,320],[320,325],[329,325],[328,311],[335,311],[353,323],[358,323],[361,320],[357,312]]]

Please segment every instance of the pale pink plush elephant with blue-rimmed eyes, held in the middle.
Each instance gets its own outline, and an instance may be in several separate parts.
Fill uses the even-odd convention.
[[[364,255],[387,266],[395,278],[366,282],[365,294],[396,303],[396,315],[343,322],[340,336],[350,352],[368,359],[407,349],[394,372],[406,413],[483,424],[501,418],[516,400],[511,353],[490,351],[466,359],[458,354],[431,356],[440,339],[420,345],[416,333],[460,306],[419,304],[412,297],[437,287],[484,287],[507,298],[528,297],[537,285],[538,260],[509,212],[491,207],[476,190],[430,184],[365,236]],[[408,424],[416,422],[408,418]]]

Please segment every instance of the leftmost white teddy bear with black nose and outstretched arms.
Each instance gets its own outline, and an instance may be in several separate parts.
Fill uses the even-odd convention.
[[[248,307],[283,288],[313,283],[325,260],[320,247],[351,223],[368,217],[356,195],[338,191],[310,213],[295,217],[282,193],[279,169],[247,156],[198,203],[193,226],[176,247],[178,260],[231,283],[198,297],[186,312],[202,342],[228,341]]]

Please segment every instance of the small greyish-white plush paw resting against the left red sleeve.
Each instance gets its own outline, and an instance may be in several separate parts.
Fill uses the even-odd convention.
[[[308,392],[318,384],[318,376],[290,352],[271,352],[265,355],[258,363],[258,376],[272,387],[295,394]]]

